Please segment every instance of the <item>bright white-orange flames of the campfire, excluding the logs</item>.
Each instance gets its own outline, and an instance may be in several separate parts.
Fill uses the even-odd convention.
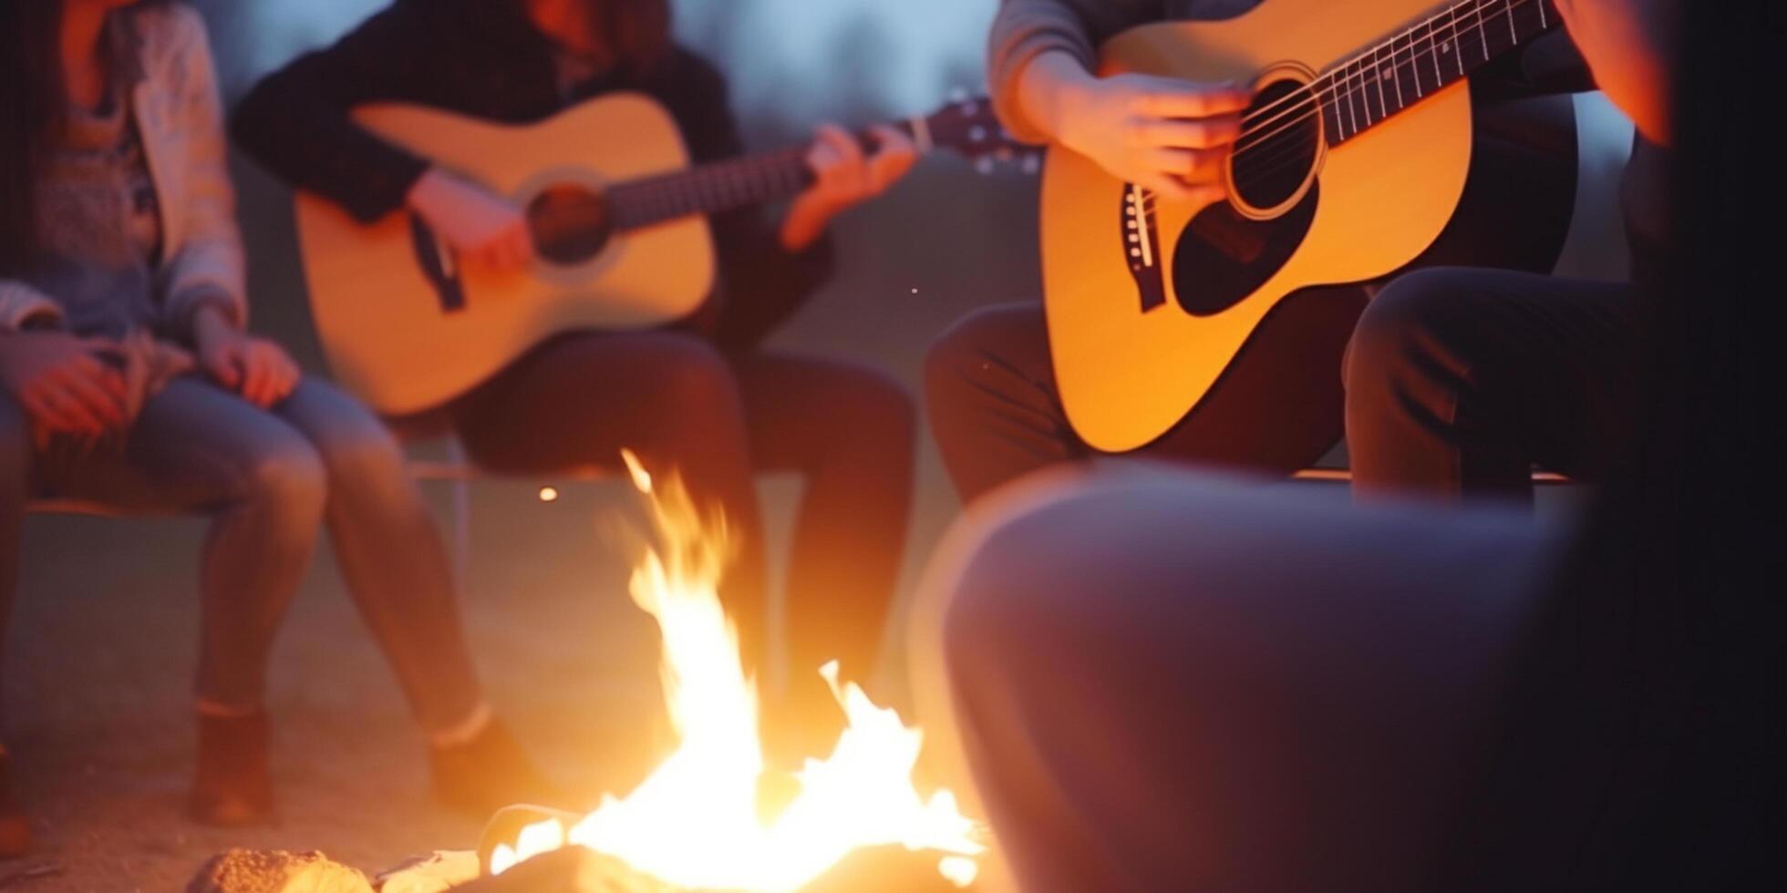
[[[938,872],[969,886],[985,850],[977,825],[949,791],[929,798],[911,784],[924,732],[877,707],[836,664],[820,670],[849,727],[827,759],[795,773],[801,793],[772,822],[758,816],[763,748],[756,684],[738,657],[738,634],[720,607],[726,520],[702,516],[681,480],[654,482],[629,454],[658,547],[629,584],[658,618],[663,689],[679,745],[625,798],[606,798],[575,827],[547,820],[497,847],[491,872],[565,845],[583,845],[684,889],[795,891],[863,847],[904,845],[938,854]]]

